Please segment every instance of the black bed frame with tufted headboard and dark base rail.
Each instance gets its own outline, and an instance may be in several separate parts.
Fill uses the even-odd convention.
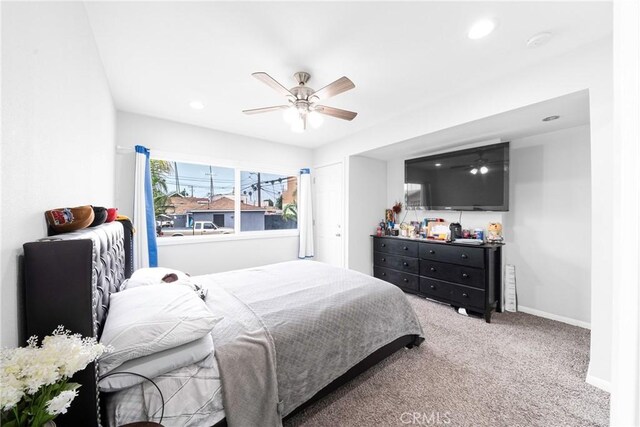
[[[23,338],[42,338],[62,324],[83,336],[100,338],[109,296],[133,272],[131,223],[110,223],[24,245]],[[296,408],[288,417],[317,402],[403,347],[423,338],[407,335],[383,346]],[[59,426],[101,426],[97,370],[91,364],[72,381],[80,383],[78,397]],[[226,426],[221,420],[216,427]]]

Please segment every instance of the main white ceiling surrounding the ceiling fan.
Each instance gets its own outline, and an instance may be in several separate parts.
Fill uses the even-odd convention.
[[[87,2],[116,108],[303,147],[339,140],[437,97],[549,60],[611,33],[608,2]],[[498,21],[482,40],[466,32]],[[545,46],[532,35],[550,31]],[[308,71],[319,89],[343,75],[356,88],[323,102],[357,111],[295,134],[283,104],[251,77],[287,87]],[[201,100],[206,108],[192,110]]]

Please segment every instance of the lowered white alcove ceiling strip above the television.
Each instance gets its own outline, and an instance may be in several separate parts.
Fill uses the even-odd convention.
[[[549,116],[560,118],[542,121]],[[390,144],[361,155],[380,160],[419,157],[461,145],[488,143],[490,140],[512,141],[588,124],[589,92],[583,90]]]

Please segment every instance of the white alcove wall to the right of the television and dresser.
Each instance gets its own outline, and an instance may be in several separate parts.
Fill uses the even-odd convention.
[[[511,141],[504,221],[518,304],[583,326],[591,321],[589,138],[579,126]]]

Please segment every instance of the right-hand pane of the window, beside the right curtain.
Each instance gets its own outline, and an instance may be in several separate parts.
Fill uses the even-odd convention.
[[[242,231],[298,228],[298,177],[240,172]]]

